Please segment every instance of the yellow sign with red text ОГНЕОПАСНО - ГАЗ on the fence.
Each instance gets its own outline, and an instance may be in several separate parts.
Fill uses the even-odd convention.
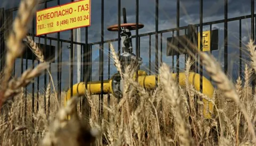
[[[82,0],[36,12],[36,36],[91,25],[91,0]]]

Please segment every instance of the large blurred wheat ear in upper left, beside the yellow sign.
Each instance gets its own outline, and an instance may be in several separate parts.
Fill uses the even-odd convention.
[[[23,0],[18,9],[17,17],[13,22],[13,27],[6,41],[6,67],[3,87],[6,88],[7,81],[12,74],[12,68],[15,58],[23,53],[22,39],[26,37],[29,29],[29,24],[36,11],[38,0]]]

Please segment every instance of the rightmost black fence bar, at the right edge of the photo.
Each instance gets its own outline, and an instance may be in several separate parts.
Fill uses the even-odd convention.
[[[251,15],[251,39],[254,41],[254,0],[251,0]],[[255,93],[255,72],[252,73],[252,93]]]

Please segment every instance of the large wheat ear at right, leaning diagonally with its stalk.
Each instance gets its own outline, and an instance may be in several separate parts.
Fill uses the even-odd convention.
[[[236,102],[240,110],[242,111],[248,127],[249,131],[252,136],[252,140],[256,142],[254,127],[252,125],[251,119],[246,112],[246,109],[244,107],[243,102],[240,100],[236,88],[234,87],[234,84],[231,83],[231,81],[228,79],[228,77],[225,75],[225,73],[221,70],[219,63],[213,58],[212,55],[207,55],[206,53],[199,52],[199,55],[203,59],[203,64],[205,65],[206,71],[210,74],[212,77],[212,80],[217,83],[218,88],[223,91],[223,95],[226,98],[232,99]]]

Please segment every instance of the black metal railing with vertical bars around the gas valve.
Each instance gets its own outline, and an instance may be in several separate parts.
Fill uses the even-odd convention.
[[[50,1],[53,1],[53,0],[49,0],[49,1],[43,1],[41,4],[44,4],[45,8],[47,8],[47,2],[50,2]],[[55,56],[54,56],[54,62],[55,62],[55,59],[57,59],[57,72],[54,73],[52,72],[52,74],[55,74],[55,80],[57,80],[57,82],[55,82],[55,84],[57,85],[57,93],[58,93],[58,99],[59,101],[61,100],[61,92],[63,91],[62,89],[62,82],[63,82],[63,72],[66,73],[65,70],[63,70],[62,68],[62,63],[65,62],[66,60],[66,56],[63,57],[63,51],[66,51],[66,53],[69,51],[69,59],[68,59],[68,62],[69,62],[69,81],[68,81],[68,84],[69,84],[69,88],[71,88],[71,95],[72,95],[72,88],[73,88],[73,84],[74,84],[74,54],[73,54],[73,50],[74,50],[74,47],[73,45],[80,45],[81,48],[82,48],[82,52],[81,54],[82,55],[82,58],[81,58],[81,66],[82,66],[82,71],[81,71],[81,74],[83,76],[82,78],[82,82],[85,82],[87,84],[87,82],[89,81],[92,81],[92,61],[93,61],[93,56],[92,56],[92,51],[93,51],[93,47],[96,46],[96,45],[99,45],[99,80],[101,81],[101,94],[99,95],[99,100],[101,101],[100,104],[101,104],[101,109],[100,109],[100,113],[102,112],[102,105],[103,105],[103,79],[104,79],[104,65],[107,65],[108,66],[108,70],[107,70],[107,78],[110,79],[110,58],[108,58],[108,63],[105,64],[104,62],[104,54],[105,54],[105,51],[107,51],[108,53],[108,57],[110,57],[110,48],[109,48],[109,43],[110,42],[117,42],[117,50],[118,50],[118,55],[121,54],[121,37],[120,37],[120,28],[121,28],[121,0],[117,0],[118,1],[118,37],[116,39],[109,39],[109,40],[105,40],[104,38],[104,1],[101,0],[101,40],[98,41],[98,42],[93,42],[93,43],[89,43],[88,42],[88,39],[89,39],[89,35],[88,35],[88,30],[90,29],[90,27],[85,27],[85,40],[84,40],[84,43],[82,42],[75,42],[74,41],[74,38],[73,38],[73,30],[68,30],[70,31],[70,40],[65,40],[65,39],[61,39],[60,38],[60,32],[57,33],[57,38],[54,38],[54,37],[49,37],[48,35],[43,35],[43,36],[39,36],[39,37],[35,37],[35,19],[33,20],[33,28],[31,28],[31,31],[30,31],[30,35],[35,39],[38,39],[38,43],[41,43],[41,40],[43,40],[43,43],[44,46],[46,46],[47,44],[49,44],[49,46],[55,46],[55,48],[57,48],[57,53],[55,53]],[[212,25],[213,24],[219,24],[219,23],[224,23],[224,40],[225,40],[225,44],[224,44],[224,55],[223,55],[223,58],[224,58],[224,71],[225,73],[228,73],[228,22],[231,22],[231,21],[239,21],[239,76],[242,77],[242,20],[244,19],[251,19],[251,38],[254,40],[254,1],[252,0],[251,1],[251,15],[244,15],[244,16],[238,16],[238,17],[235,17],[235,18],[228,18],[228,2],[227,0],[225,0],[223,2],[223,5],[225,5],[225,11],[224,11],[224,16],[225,16],[225,19],[223,20],[218,20],[218,21],[211,21],[211,22],[203,22],[203,1],[202,0],[198,0],[199,1],[199,24],[193,24],[193,26],[195,27],[196,29],[196,33],[198,32],[203,32],[203,26],[206,26],[206,25],[209,25],[210,27],[210,31],[212,31]],[[60,0],[57,0],[57,4],[60,5]],[[141,50],[140,50],[140,39],[141,37],[146,37],[148,36],[149,37],[149,74],[152,70],[155,71],[155,74],[158,74],[158,67],[159,67],[159,61],[160,61],[160,64],[163,62],[163,34],[164,33],[167,33],[167,32],[172,32],[172,36],[171,37],[179,37],[180,36],[180,31],[185,31],[186,34],[185,35],[188,35],[188,26],[184,26],[184,27],[180,27],[180,1],[177,0],[177,27],[176,28],[172,28],[172,29],[166,29],[166,30],[161,30],[159,31],[158,30],[158,0],[155,1],[155,31],[153,32],[149,32],[149,33],[143,33],[143,34],[139,34],[139,31],[138,31],[138,23],[139,23],[139,1],[136,0],[136,5],[135,5],[135,10],[136,10],[136,23],[137,23],[137,29],[135,30],[135,35],[132,36],[133,39],[135,39],[135,55],[137,56],[137,59],[138,57],[141,56]],[[5,53],[5,43],[4,43],[4,32],[7,33],[7,30],[10,29],[10,24],[11,24],[11,20],[13,19],[13,12],[14,11],[17,11],[17,7],[15,8],[11,8],[11,9],[8,9],[8,10],[4,10],[4,8],[1,8],[0,9],[0,28],[4,28],[4,29],[0,29],[0,55],[1,55],[1,64],[0,64],[0,67],[1,67],[1,71],[4,67],[4,53]],[[97,10],[98,11],[98,10]],[[5,19],[4,18],[4,15],[5,15]],[[4,24],[4,22],[7,22],[6,24]],[[199,29],[199,31],[198,31]],[[203,39],[203,36],[202,36],[202,33],[198,33],[200,34],[199,35],[199,38],[200,40]],[[151,39],[153,39],[153,35],[155,35],[155,67],[154,68],[151,68],[151,56],[153,56],[151,54],[151,46],[152,46],[152,43],[151,43]],[[160,38],[160,45],[158,44],[158,41],[159,41],[159,38]],[[55,45],[53,45],[53,41],[57,41],[57,43]],[[49,43],[47,43],[49,42]],[[67,48],[67,49],[63,49],[63,44],[68,44],[70,47]],[[104,44],[108,44],[108,48],[104,48]],[[178,47],[180,46],[180,44],[178,43]],[[199,49],[200,50],[203,50],[203,46],[202,46],[202,41],[200,43],[200,46],[199,46]],[[46,55],[46,49],[43,48],[44,50],[44,54]],[[159,52],[160,51],[160,52]],[[23,55],[28,55],[28,51],[25,51],[26,53],[23,54]],[[158,59],[158,52],[160,53],[160,59]],[[210,53],[212,53],[212,50],[210,50]],[[185,55],[187,56],[187,54]],[[180,53],[178,51],[178,54],[175,56],[176,57],[176,66],[174,66],[174,56],[172,56],[172,68],[173,68],[173,72],[174,72],[174,68],[176,70],[176,73],[179,74],[180,72]],[[185,57],[185,62],[186,62],[186,58]],[[25,69],[27,69],[29,66],[28,66],[28,58],[27,57],[24,57],[25,59]],[[35,56],[33,56],[33,58],[31,59],[31,62],[32,62],[32,66],[34,67],[36,64],[39,63],[39,61],[36,62],[35,60]],[[199,63],[199,64],[198,64]],[[14,68],[14,71],[13,71],[13,75],[17,74],[17,72],[15,72],[15,70],[17,70],[17,68],[19,67],[20,65],[20,72],[22,73],[24,71],[24,66],[23,66],[23,59],[20,59],[20,64],[17,64],[17,62],[15,62],[15,68]],[[18,67],[17,67],[18,66]],[[198,71],[198,68],[199,68],[199,71]],[[51,68],[52,69],[52,68]],[[203,87],[203,84],[202,84],[202,76],[203,76],[203,66],[202,66],[202,62],[201,62],[201,59],[199,59],[199,61],[196,61],[196,64],[195,64],[195,72],[199,72],[199,74],[201,75],[201,78],[200,78],[200,82],[201,82],[201,85],[200,85],[200,89],[202,90],[202,87]],[[253,75],[255,76],[255,75]],[[45,71],[44,73],[44,90],[46,90],[47,88],[47,80],[49,81],[50,80],[50,76],[48,76],[49,78],[47,78],[47,72]],[[66,77],[66,76],[65,76]],[[137,73],[137,77],[138,77],[138,73]],[[56,79],[57,78],[57,79]],[[177,76],[177,79],[179,80],[179,76]],[[65,79],[64,79],[65,80]],[[211,80],[211,79],[210,79]],[[254,87],[255,85],[255,78],[253,78],[252,80],[252,86]],[[157,79],[156,79],[157,81]],[[77,82],[80,82],[80,81],[77,81]],[[35,89],[36,88],[36,89]],[[35,104],[35,98],[39,98],[39,90],[40,90],[40,79],[39,77],[37,78],[37,82],[33,82],[32,85],[31,85],[31,95],[32,95],[32,106],[33,107],[36,107],[36,109],[38,110],[38,103]],[[253,89],[253,93],[255,92],[255,89]],[[37,95],[37,97],[35,97],[35,93]],[[26,99],[26,96],[27,96],[27,88],[26,88],[26,91],[25,91],[25,99]],[[109,98],[110,96],[108,95],[108,101],[109,101]],[[44,97],[45,99],[45,105],[46,105],[46,98]],[[48,104],[50,106],[50,103]],[[35,109],[33,109],[33,113],[35,112]]]

